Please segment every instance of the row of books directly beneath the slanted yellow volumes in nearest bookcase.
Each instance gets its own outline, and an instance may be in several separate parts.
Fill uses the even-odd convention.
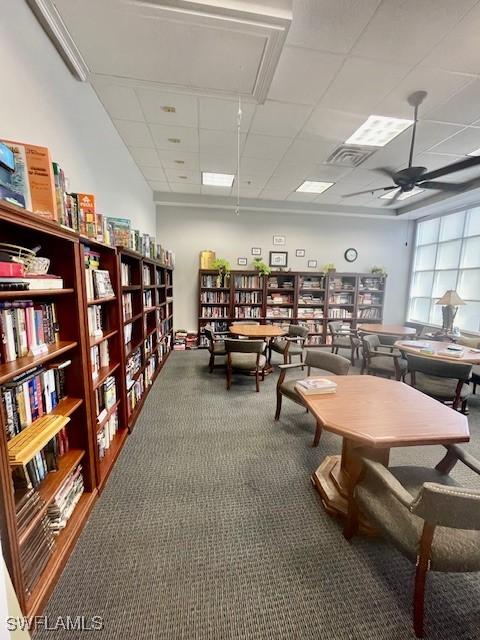
[[[51,471],[58,471],[58,459],[68,450],[68,434],[63,428],[25,466],[12,467],[15,491],[38,487]]]

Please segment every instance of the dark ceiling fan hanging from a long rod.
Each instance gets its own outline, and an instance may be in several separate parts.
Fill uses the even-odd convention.
[[[389,191],[393,191],[394,189],[396,189],[396,193],[388,202],[388,204],[392,204],[402,193],[408,193],[416,187],[419,189],[436,189],[438,191],[456,192],[462,191],[465,188],[465,184],[438,182],[435,181],[435,178],[440,178],[442,176],[449,175],[450,173],[455,173],[456,171],[462,171],[463,169],[474,167],[480,164],[480,156],[472,156],[466,158],[465,160],[460,160],[459,162],[454,162],[453,164],[441,167],[440,169],[434,169],[433,171],[428,171],[426,167],[412,166],[413,149],[415,146],[415,133],[417,130],[418,107],[422,104],[426,97],[426,91],[415,91],[415,93],[412,93],[408,97],[408,104],[410,104],[414,108],[412,141],[410,143],[408,167],[406,169],[401,169],[400,171],[392,171],[392,169],[388,169],[387,167],[376,169],[376,171],[380,171],[381,173],[384,173],[386,176],[391,178],[391,180],[393,180],[395,184],[389,187],[379,187],[377,189],[366,189],[365,191],[348,193],[343,196],[344,198],[351,198],[353,196],[359,196],[364,193],[373,194],[377,191],[384,191],[385,193],[388,193]]]

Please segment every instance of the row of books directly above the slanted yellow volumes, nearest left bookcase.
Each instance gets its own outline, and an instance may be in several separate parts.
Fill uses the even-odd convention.
[[[36,367],[1,387],[7,440],[50,413],[65,397],[65,369],[71,360]]]

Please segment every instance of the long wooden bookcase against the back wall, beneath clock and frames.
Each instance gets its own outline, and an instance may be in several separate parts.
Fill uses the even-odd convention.
[[[224,281],[212,270],[199,271],[199,346],[206,346],[203,328],[228,333],[232,322],[306,326],[307,346],[329,342],[328,322],[341,320],[355,328],[360,322],[382,322],[386,276],[366,273],[234,270]]]

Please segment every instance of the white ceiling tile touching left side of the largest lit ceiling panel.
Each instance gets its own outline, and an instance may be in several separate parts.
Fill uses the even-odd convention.
[[[305,124],[300,137],[309,138],[314,135],[328,141],[345,142],[365,122],[368,115],[317,107]]]

